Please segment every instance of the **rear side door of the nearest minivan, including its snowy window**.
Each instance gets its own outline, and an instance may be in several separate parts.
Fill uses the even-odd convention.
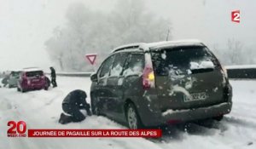
[[[122,77],[120,74],[123,72],[125,66],[125,60],[128,56],[128,53],[118,53],[115,54],[115,58],[113,61],[113,66],[110,70],[108,77],[108,112],[111,117],[118,118],[119,113],[117,112],[117,105],[120,105],[122,102],[122,88],[120,87],[120,83],[122,81]]]

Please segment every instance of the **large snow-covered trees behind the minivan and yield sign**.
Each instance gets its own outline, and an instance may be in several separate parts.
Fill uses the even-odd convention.
[[[66,18],[66,26],[56,27],[45,42],[51,60],[62,71],[91,71],[84,54],[97,53],[100,64],[119,45],[163,41],[171,29],[170,21],[148,12],[143,0],[119,0],[108,14],[73,3]]]

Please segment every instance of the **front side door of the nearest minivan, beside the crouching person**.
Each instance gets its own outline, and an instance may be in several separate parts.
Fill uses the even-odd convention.
[[[108,99],[109,99],[109,92],[107,88],[107,81],[110,69],[112,67],[114,60],[114,55],[108,57],[108,59],[104,60],[102,66],[100,67],[97,76],[98,82],[96,83],[96,99],[97,99],[97,106],[104,114],[108,115]]]

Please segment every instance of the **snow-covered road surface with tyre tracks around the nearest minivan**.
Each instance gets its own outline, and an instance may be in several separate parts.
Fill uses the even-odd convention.
[[[67,81],[66,81],[67,79]],[[95,129],[95,128],[108,128],[108,129],[115,129],[115,128],[122,128],[118,124],[111,123],[107,119],[101,117],[88,117],[83,123],[71,123],[70,125],[61,126],[57,124],[57,122],[52,122],[52,119],[49,118],[50,116],[54,115],[54,112],[58,112],[59,106],[61,103],[60,99],[61,95],[66,94],[72,88],[82,88],[82,84],[76,84],[75,86],[68,87],[68,79],[66,78],[65,81],[62,79],[63,84],[58,89],[49,90],[46,92],[42,91],[35,91],[26,93],[24,95],[14,93],[12,89],[5,89],[3,92],[0,90],[1,93],[1,100],[6,97],[7,99],[4,102],[0,101],[0,108],[2,106],[4,112],[10,112],[11,115],[5,115],[3,118],[25,118],[27,125],[36,127],[36,128],[46,128],[46,127],[55,127],[55,128],[79,128],[79,129]],[[73,79],[73,78],[72,78]],[[79,81],[79,79],[78,79]],[[238,88],[238,85],[234,85],[234,88]],[[251,82],[249,82],[251,83]],[[240,88],[240,87],[239,87]],[[244,87],[242,87],[244,88]],[[88,89],[90,89],[88,87]],[[88,92],[88,89],[86,90]],[[238,90],[238,89],[237,89]],[[236,92],[237,93],[237,92]],[[256,93],[256,92],[255,92]],[[244,96],[244,93],[239,92],[241,96]],[[38,100],[38,101],[37,101]],[[36,140],[25,139],[22,138],[17,140],[10,140],[9,138],[3,141],[9,141],[13,143],[12,146],[4,146],[0,148],[13,148],[17,149],[21,148],[71,148],[71,146],[76,146],[75,148],[97,148],[97,145],[93,145],[95,142],[100,144],[104,148],[156,148],[156,146],[160,146],[160,148],[246,148],[246,147],[255,147],[256,137],[255,135],[251,135],[255,133],[255,123],[251,122],[251,119],[248,119],[247,110],[253,110],[253,106],[247,106],[247,104],[243,104],[240,102],[240,99],[237,99],[235,94],[234,105],[237,106],[234,108],[234,112],[230,115],[224,117],[223,121],[211,121],[207,123],[185,123],[185,124],[177,124],[177,126],[170,126],[165,130],[163,137],[159,140],[152,140],[146,141],[143,139],[135,139],[130,140],[129,138],[125,139],[83,139],[83,140]],[[253,100],[247,100],[248,102],[253,102]],[[28,103],[26,103],[28,102]],[[60,103],[58,103],[60,102]],[[241,106],[239,106],[241,105]],[[244,107],[244,108],[240,108]],[[15,110],[15,108],[18,108]],[[60,108],[61,109],[61,108]],[[25,114],[23,112],[26,112]],[[240,113],[241,112],[241,113]],[[32,114],[31,114],[32,113]],[[239,114],[240,113],[240,114]],[[4,114],[1,111],[1,114]],[[16,114],[16,116],[15,116]],[[44,114],[44,115],[42,115]],[[251,116],[251,115],[250,115]],[[2,119],[3,119],[2,118]],[[251,117],[250,117],[251,118]],[[1,119],[1,120],[2,120]],[[18,120],[17,119],[17,120]],[[16,119],[15,119],[16,120]],[[4,125],[6,123],[4,122]],[[6,133],[5,129],[4,133]],[[251,133],[251,134],[250,134]],[[6,135],[6,134],[4,134]],[[2,138],[1,138],[2,141]],[[13,142],[11,142],[13,141]],[[18,141],[18,142],[15,142]],[[19,142],[22,141],[22,142]],[[9,143],[8,142],[8,143]],[[82,143],[80,143],[82,142]],[[91,143],[93,142],[93,143]],[[2,143],[2,142],[1,142]],[[151,145],[151,144],[152,145]],[[7,144],[7,143],[6,143]],[[92,144],[92,145],[91,145]],[[151,146],[151,147],[143,147],[143,145]],[[154,145],[154,146],[153,146]],[[90,147],[89,147],[90,146]],[[94,146],[94,147],[91,147]]]

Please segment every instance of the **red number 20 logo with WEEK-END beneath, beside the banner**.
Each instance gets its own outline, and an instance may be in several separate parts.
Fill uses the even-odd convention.
[[[8,137],[26,137],[26,123],[24,121],[9,121],[7,126],[9,126]]]

